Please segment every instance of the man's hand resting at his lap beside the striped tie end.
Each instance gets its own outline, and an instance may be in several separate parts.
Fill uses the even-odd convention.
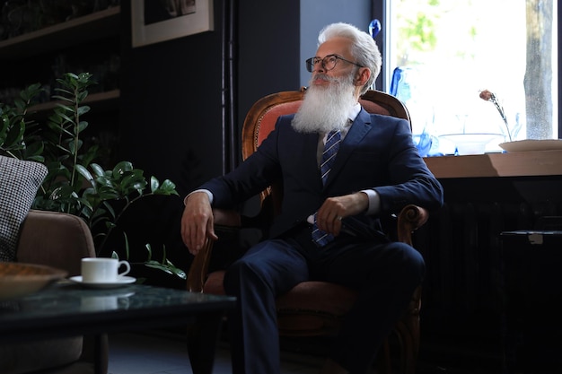
[[[369,197],[364,192],[329,197],[318,210],[316,223],[320,230],[338,236],[343,218],[363,213],[368,207]]]

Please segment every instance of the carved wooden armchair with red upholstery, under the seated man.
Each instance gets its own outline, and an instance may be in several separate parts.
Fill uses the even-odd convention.
[[[257,101],[248,113],[242,127],[242,158],[245,160],[255,152],[276,124],[277,117],[296,112],[303,100],[303,91],[285,91],[269,95]],[[364,109],[377,114],[408,119],[408,110],[393,96],[382,91],[368,91],[360,100]],[[271,186],[260,194],[261,209],[253,219],[240,214],[215,209],[215,224],[225,227],[247,227],[249,224],[267,230],[268,222],[278,212],[283,191]],[[428,218],[425,209],[416,205],[406,206],[398,217],[393,217],[395,227],[392,239],[412,244],[411,233],[423,225]],[[207,273],[211,261],[213,242],[195,257],[188,275],[189,291],[224,294],[224,271]],[[280,335],[312,336],[334,335],[356,300],[356,291],[326,282],[304,282],[277,299],[277,325]],[[419,349],[419,309],[421,307],[421,285],[412,295],[404,316],[396,324],[393,334],[400,346],[400,372],[412,374],[416,369]],[[390,373],[391,344],[389,339],[382,349],[379,362],[382,371]],[[380,355],[381,355],[380,353]]]

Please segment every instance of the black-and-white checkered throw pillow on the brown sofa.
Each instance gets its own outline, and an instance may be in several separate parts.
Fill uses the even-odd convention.
[[[47,176],[38,162],[0,156],[0,261],[14,261],[20,225]]]

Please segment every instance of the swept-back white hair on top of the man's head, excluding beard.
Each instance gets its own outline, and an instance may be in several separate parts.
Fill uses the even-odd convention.
[[[363,94],[373,84],[376,77],[381,73],[382,57],[381,51],[377,47],[371,35],[359,30],[356,26],[349,23],[338,22],[332,23],[320,31],[318,35],[318,45],[329,39],[346,38],[351,40],[351,55],[356,58],[359,65],[369,68],[371,76],[364,83]]]

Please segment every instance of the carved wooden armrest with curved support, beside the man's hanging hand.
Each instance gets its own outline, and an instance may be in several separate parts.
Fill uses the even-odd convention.
[[[241,227],[241,215],[237,212],[213,209],[213,215],[215,217],[215,226]],[[193,258],[193,262],[189,266],[188,291],[203,291],[214,244],[215,240],[206,239],[203,248]]]

